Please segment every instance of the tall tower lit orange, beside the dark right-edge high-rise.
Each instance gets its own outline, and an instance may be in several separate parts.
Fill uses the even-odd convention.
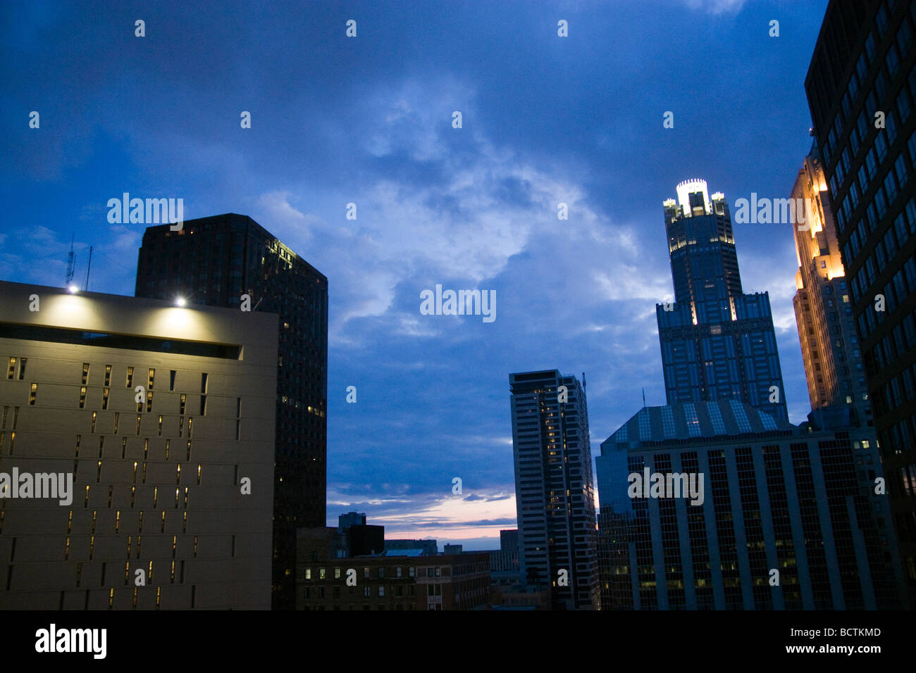
[[[834,212],[817,148],[805,157],[791,198],[809,203],[810,221],[793,223],[799,269],[795,321],[812,409],[845,410],[845,425],[872,426],[871,402],[853,319]]]

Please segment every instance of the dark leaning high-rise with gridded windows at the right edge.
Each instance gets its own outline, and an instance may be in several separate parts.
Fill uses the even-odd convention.
[[[916,599],[916,4],[827,6],[805,90]]]

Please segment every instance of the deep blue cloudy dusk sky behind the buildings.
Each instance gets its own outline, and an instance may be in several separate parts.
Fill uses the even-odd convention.
[[[6,2],[0,278],[62,285],[72,233],[77,277],[93,245],[91,288],[132,295],[144,225],[106,218],[125,191],[250,215],[329,278],[329,522],[495,548],[516,516],[508,374],[585,372],[594,454],[643,387],[664,403],[661,202],[691,178],[733,209],[789,196],[826,5]],[[791,225],[735,237],[801,422]],[[496,320],[420,315],[437,283],[495,289]]]

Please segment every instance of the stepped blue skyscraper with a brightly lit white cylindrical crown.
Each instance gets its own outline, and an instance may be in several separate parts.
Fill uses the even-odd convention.
[[[746,295],[732,220],[702,179],[664,201],[674,300],[656,306],[669,404],[736,399],[788,420],[769,294]]]

